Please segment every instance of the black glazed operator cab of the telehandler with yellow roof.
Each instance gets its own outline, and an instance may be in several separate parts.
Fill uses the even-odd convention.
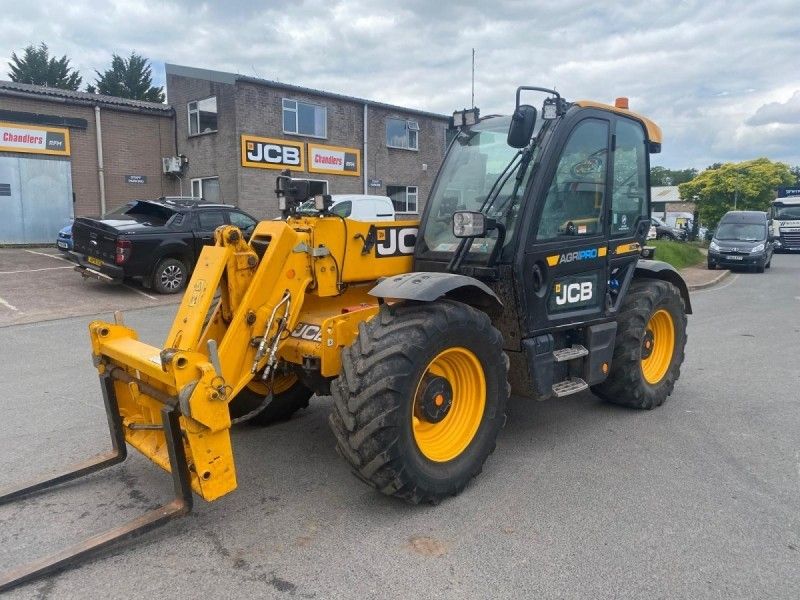
[[[545,94],[541,110],[521,104],[521,92]],[[660,148],[661,130],[627,99],[567,102],[521,87],[511,117],[459,129],[422,216],[414,270],[489,285],[513,323],[509,350],[554,326],[609,320],[641,258],[649,154]]]

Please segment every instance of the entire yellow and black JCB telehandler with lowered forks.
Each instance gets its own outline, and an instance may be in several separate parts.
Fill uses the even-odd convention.
[[[520,103],[531,91],[545,95],[541,115]],[[333,396],[353,472],[413,503],[457,494],[481,471],[512,391],[664,402],[691,307],[680,275],[642,258],[658,126],[625,99],[567,102],[534,87],[517,90],[511,117],[457,116],[421,222],[342,218],[282,175],[285,219],[249,242],[217,230],[163,348],[121,315],[89,325],[112,451],[0,502],[121,462],[126,444],[172,474],[176,498],[7,573],[0,589],[185,514],[192,492],[232,492],[231,425],[285,418],[314,393]]]

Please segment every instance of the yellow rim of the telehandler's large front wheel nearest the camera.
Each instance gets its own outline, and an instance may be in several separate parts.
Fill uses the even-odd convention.
[[[478,357],[461,347],[436,355],[414,394],[411,427],[420,452],[434,462],[459,456],[475,437],[485,408],[486,376]]]

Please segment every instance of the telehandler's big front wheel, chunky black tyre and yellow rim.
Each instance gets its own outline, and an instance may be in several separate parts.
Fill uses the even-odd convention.
[[[456,495],[494,450],[507,370],[485,313],[451,300],[383,306],[331,385],[337,450],[384,494],[413,504]]]

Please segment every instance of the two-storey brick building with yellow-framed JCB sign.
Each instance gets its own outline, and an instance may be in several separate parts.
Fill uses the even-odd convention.
[[[275,177],[315,193],[392,197],[418,214],[442,162],[449,117],[276,81],[166,65],[184,193],[278,214]]]

